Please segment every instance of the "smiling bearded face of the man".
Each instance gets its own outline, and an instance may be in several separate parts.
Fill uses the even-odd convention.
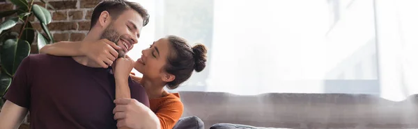
[[[100,39],[115,42],[122,49],[118,50],[118,58],[125,57],[134,44],[137,44],[142,30],[143,19],[135,10],[125,10],[121,15],[104,29]]]

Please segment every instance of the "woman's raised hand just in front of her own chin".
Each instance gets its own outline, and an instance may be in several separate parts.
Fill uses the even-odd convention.
[[[134,60],[131,58],[118,58],[114,66],[115,79],[127,80],[134,68]]]

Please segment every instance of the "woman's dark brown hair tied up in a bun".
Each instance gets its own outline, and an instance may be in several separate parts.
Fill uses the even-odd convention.
[[[196,44],[193,47],[181,37],[169,35],[170,55],[167,58],[165,71],[173,74],[176,78],[167,83],[169,89],[176,89],[180,83],[185,82],[192,76],[192,72],[200,72],[206,67],[206,53],[208,49],[203,44]]]

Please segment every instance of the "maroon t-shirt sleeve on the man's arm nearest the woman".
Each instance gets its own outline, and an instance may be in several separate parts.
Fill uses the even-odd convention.
[[[134,98],[137,101],[139,101],[139,103],[142,103],[147,107],[150,107],[150,101],[148,99],[148,95],[146,94],[144,87],[142,87],[141,84],[134,82],[132,78],[129,78],[128,81],[131,92],[131,98]]]

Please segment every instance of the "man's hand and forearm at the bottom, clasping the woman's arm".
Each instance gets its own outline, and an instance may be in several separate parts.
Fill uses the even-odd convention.
[[[114,119],[118,120],[118,128],[160,129],[160,119],[146,105],[132,98],[118,98],[114,101]]]

